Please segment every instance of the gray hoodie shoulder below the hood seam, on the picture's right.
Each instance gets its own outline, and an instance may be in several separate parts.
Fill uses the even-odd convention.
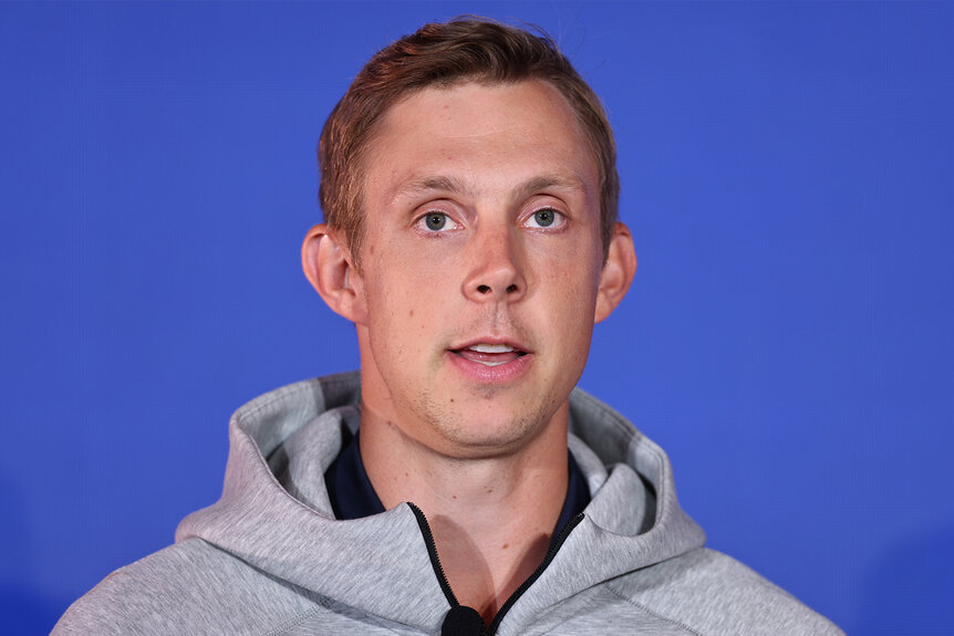
[[[622,601],[701,636],[842,635],[751,569],[699,548],[608,584]]]

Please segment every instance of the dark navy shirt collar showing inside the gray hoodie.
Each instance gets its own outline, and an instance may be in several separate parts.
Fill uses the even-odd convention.
[[[384,505],[364,470],[357,435],[355,432],[354,437],[345,442],[338,458],[324,473],[331,508],[334,511],[334,517],[341,520],[361,519],[384,512]],[[553,538],[590,503],[590,489],[587,487],[587,480],[580,467],[577,466],[573,453],[569,450],[567,451],[567,466],[570,477],[567,499],[563,500],[563,509],[560,511],[560,518],[553,529]]]

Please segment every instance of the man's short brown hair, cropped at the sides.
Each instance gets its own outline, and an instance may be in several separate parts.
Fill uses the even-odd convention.
[[[341,98],[318,145],[319,200],[328,225],[344,234],[355,267],[364,236],[363,154],[374,126],[403,97],[429,86],[542,80],[567,98],[600,175],[603,258],[618,218],[616,147],[600,98],[542,31],[486,19],[429,23],[379,51]]]

